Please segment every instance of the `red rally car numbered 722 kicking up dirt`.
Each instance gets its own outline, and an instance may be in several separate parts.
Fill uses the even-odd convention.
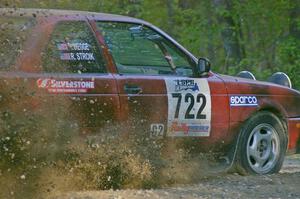
[[[0,89],[19,93],[31,111],[62,99],[82,128],[138,121],[145,137],[225,151],[246,173],[278,172],[296,151],[298,91],[213,73],[145,21],[35,9],[0,16]]]

